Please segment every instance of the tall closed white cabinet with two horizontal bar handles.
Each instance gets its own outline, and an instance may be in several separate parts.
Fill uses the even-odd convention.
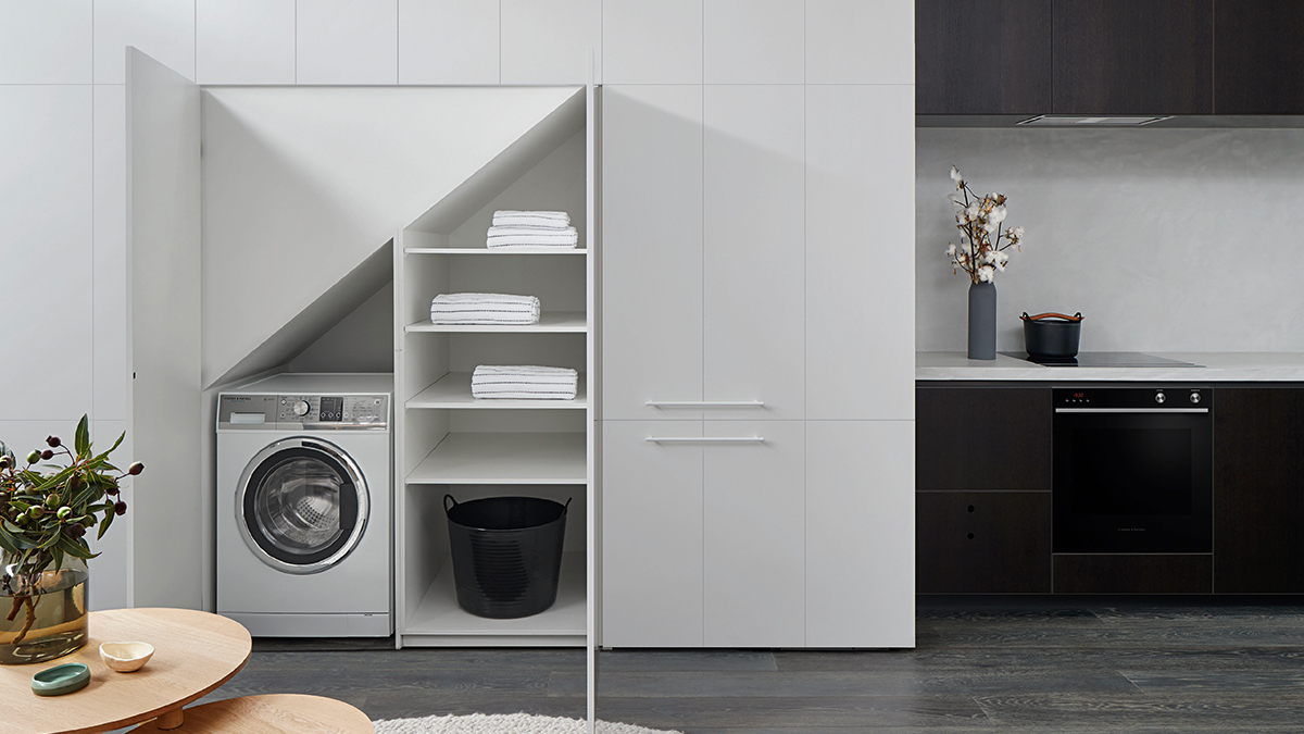
[[[605,88],[604,646],[913,646],[913,149],[910,85]]]

